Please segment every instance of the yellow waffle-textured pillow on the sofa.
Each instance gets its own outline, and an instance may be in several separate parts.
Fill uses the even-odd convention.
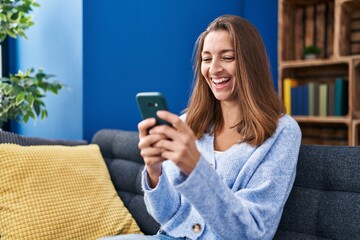
[[[140,233],[97,145],[0,144],[0,239]]]

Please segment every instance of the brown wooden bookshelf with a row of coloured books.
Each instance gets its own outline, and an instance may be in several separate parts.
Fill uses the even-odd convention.
[[[279,0],[278,27],[278,91],[303,144],[360,145],[360,1]]]

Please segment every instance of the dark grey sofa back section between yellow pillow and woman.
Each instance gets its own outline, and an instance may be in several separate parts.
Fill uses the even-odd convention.
[[[116,191],[141,231],[156,234],[160,225],[147,212],[141,189],[144,160],[138,148],[138,133],[104,129],[94,135],[92,142],[99,145]]]

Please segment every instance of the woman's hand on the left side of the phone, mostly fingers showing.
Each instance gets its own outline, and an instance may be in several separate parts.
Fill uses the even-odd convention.
[[[158,141],[165,139],[161,134],[148,134],[148,130],[156,123],[155,118],[148,118],[138,124],[139,130],[139,149],[144,159],[146,171],[148,173],[148,184],[151,188],[155,188],[159,182],[161,175],[161,165],[165,161],[161,157],[162,149],[153,147]]]

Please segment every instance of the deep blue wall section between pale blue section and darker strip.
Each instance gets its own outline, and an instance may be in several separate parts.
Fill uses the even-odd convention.
[[[180,113],[194,42],[222,14],[241,15],[242,1],[84,1],[85,138],[101,128],[135,130],[137,92],[160,91]]]

